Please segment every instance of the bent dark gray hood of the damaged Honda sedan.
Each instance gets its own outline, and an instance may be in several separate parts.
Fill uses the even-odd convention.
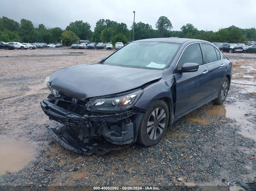
[[[128,91],[162,77],[162,70],[83,64],[53,72],[49,84],[70,97],[85,100]]]

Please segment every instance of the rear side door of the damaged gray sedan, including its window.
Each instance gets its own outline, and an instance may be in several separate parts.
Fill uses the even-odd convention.
[[[221,60],[221,54],[214,46],[201,43],[204,63],[208,67],[208,90],[206,94],[206,102],[218,96],[222,80],[225,75],[225,64]]]

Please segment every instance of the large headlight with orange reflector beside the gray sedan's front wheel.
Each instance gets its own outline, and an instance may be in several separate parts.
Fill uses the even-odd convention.
[[[143,90],[138,90],[118,97],[92,98],[88,102],[87,110],[101,112],[124,111],[135,105]]]

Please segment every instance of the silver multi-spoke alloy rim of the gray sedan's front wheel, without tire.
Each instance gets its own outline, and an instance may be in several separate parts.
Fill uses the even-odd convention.
[[[151,140],[157,139],[163,132],[166,123],[165,110],[161,107],[156,108],[148,119],[147,134]]]

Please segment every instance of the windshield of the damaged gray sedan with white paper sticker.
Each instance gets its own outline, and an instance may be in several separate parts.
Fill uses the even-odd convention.
[[[179,46],[166,42],[130,43],[108,57],[104,64],[162,70],[168,66]]]

